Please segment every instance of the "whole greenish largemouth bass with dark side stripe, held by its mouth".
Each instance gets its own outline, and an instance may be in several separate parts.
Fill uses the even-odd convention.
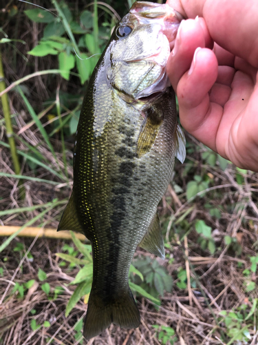
[[[136,247],[164,259],[157,213],[175,157],[186,155],[166,61],[182,17],[137,1],[114,28],[83,100],[74,143],[74,184],[58,230],[92,243],[93,281],[83,334],[114,323],[137,328],[129,288]]]

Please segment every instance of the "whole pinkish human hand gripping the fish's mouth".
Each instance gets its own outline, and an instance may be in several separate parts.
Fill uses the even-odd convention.
[[[188,18],[167,63],[182,126],[235,165],[258,172],[258,1],[167,3]]]

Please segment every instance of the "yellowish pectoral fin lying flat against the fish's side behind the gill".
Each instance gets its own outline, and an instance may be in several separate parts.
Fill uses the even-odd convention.
[[[162,110],[155,106],[151,106],[144,115],[146,117],[142,122],[142,128],[140,129],[136,148],[136,155],[138,158],[151,150],[163,121]]]

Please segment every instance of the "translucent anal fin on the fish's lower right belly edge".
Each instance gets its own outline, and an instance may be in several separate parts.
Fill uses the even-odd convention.
[[[162,259],[165,258],[164,240],[160,228],[160,219],[158,213],[155,213],[147,233],[144,235],[139,246],[148,250],[149,253],[155,254]]]

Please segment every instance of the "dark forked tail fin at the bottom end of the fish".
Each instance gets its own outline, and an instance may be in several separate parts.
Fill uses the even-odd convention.
[[[83,328],[85,339],[96,337],[112,322],[122,328],[137,328],[140,325],[140,313],[129,287],[125,293],[112,296],[110,303],[103,302],[94,291],[89,296]]]

